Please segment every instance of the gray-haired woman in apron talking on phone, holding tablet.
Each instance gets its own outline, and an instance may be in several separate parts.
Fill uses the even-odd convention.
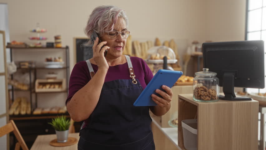
[[[95,8],[85,32],[100,36],[94,41],[93,58],[77,63],[71,73],[67,111],[83,121],[78,149],[154,150],[149,109],[157,116],[170,109],[172,91],[157,89],[163,98],[151,95],[157,106],[134,107],[152,72],[141,58],[122,55],[128,20],[125,11],[114,6]],[[108,50],[104,57],[105,50]]]

